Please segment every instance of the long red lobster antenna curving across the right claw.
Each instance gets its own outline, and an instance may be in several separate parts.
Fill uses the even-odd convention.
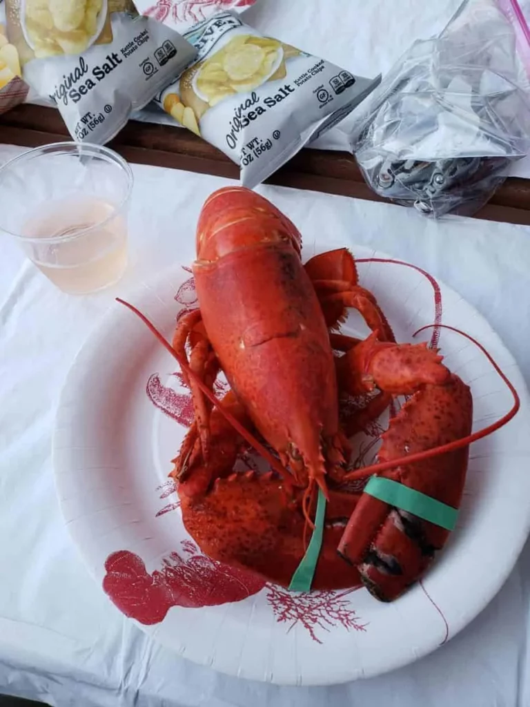
[[[476,440],[480,440],[483,437],[487,437],[488,435],[497,431],[501,427],[505,426],[505,424],[510,422],[510,420],[517,415],[519,407],[521,407],[521,400],[519,398],[519,394],[517,393],[517,390],[515,390],[515,387],[512,385],[512,382],[510,382],[510,380],[508,379],[507,375],[503,373],[502,370],[500,370],[500,366],[498,366],[493,356],[488,351],[486,351],[484,346],[476,339],[473,339],[470,334],[466,334],[466,332],[461,332],[460,329],[450,327],[447,324],[428,324],[426,327],[421,327],[421,329],[418,329],[417,332],[414,332],[413,337],[416,337],[417,334],[420,334],[420,332],[425,331],[425,329],[432,329],[432,327],[441,327],[442,329],[449,329],[452,332],[456,332],[462,337],[466,337],[466,339],[469,339],[469,341],[472,341],[475,346],[478,346],[478,348],[481,349],[482,353],[485,355],[486,358],[488,358],[488,361],[491,363],[493,368],[495,368],[497,373],[500,375],[502,380],[510,389],[510,392],[514,397],[514,404],[512,406],[512,409],[510,409],[507,414],[503,415],[492,425],[489,425],[488,427],[485,427],[482,430],[479,430],[478,432],[474,432],[473,434],[468,435],[467,437],[463,437],[459,440],[454,440],[453,442],[448,442],[447,444],[442,444],[439,447],[433,447],[432,449],[428,449],[423,452],[416,452],[416,454],[411,454],[406,457],[398,457],[397,459],[390,460],[389,462],[382,462],[381,464],[371,464],[369,467],[357,469],[355,472],[345,474],[344,481],[354,481],[355,479],[363,479],[365,476],[370,476],[370,474],[375,474],[377,472],[386,472],[388,469],[395,469],[396,467],[401,466],[401,464],[414,464],[415,462],[423,462],[426,459],[430,459],[431,457],[437,457],[440,454],[454,452],[457,449],[467,447],[472,442],[476,442]]]

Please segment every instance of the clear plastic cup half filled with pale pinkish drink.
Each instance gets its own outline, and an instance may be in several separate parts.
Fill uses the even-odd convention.
[[[108,287],[127,264],[131,168],[100,145],[37,147],[0,168],[0,230],[62,291]]]

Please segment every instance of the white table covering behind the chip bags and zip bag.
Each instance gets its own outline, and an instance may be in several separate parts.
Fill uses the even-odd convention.
[[[416,40],[439,34],[462,0],[257,0],[243,19],[264,35],[278,37],[360,76],[386,74]],[[519,0],[530,23],[530,0]],[[351,128],[363,105],[311,147],[350,150]],[[175,122],[154,105],[137,118]],[[530,177],[530,157],[512,176]]]

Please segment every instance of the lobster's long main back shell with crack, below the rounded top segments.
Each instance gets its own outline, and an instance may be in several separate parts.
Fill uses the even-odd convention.
[[[280,454],[295,445],[307,462],[317,460],[321,434],[338,431],[336,374],[297,252],[253,245],[194,267],[194,275],[208,338],[254,425]]]

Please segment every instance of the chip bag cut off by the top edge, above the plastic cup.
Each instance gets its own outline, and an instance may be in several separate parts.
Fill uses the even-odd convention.
[[[77,141],[112,139],[196,54],[131,0],[6,0],[6,23],[23,78]]]

